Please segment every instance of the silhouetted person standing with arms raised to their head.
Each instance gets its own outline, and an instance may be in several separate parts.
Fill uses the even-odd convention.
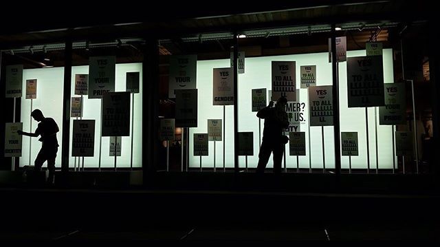
[[[287,99],[278,98],[276,105],[271,101],[269,105],[261,109],[256,116],[264,118],[263,142],[261,142],[259,153],[259,164],[256,168],[257,173],[264,173],[270,153],[274,152],[274,173],[281,173],[281,161],[285,145],[283,130],[289,127],[289,118],[285,107]]]

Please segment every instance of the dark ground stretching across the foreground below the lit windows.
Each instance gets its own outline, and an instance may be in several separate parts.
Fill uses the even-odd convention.
[[[428,178],[159,173],[139,186],[135,177],[9,180],[0,241],[440,241]]]

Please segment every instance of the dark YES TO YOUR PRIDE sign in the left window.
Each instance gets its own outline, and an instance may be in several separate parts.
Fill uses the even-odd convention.
[[[115,92],[115,56],[89,58],[89,98],[102,98],[105,92]]]

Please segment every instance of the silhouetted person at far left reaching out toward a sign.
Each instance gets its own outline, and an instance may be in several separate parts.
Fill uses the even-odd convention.
[[[35,171],[41,171],[41,167],[47,160],[47,169],[49,170],[47,182],[52,184],[52,182],[54,182],[55,158],[59,147],[58,140],[56,140],[56,133],[60,131],[60,129],[58,129],[58,125],[56,125],[53,118],[45,118],[39,109],[34,109],[30,116],[39,122],[39,127],[36,128],[35,133],[23,131],[17,131],[17,133],[23,136],[41,136],[39,141],[43,143],[41,144],[39,154],[36,155],[35,158]]]

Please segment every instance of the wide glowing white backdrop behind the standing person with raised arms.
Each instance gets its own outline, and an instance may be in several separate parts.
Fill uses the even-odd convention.
[[[364,56],[365,51],[347,52],[347,56]],[[272,61],[296,61],[296,70],[299,71],[302,65],[316,65],[316,85],[332,85],[331,63],[328,63],[328,53],[317,54],[298,54],[287,56],[265,56],[258,58],[246,58],[246,72],[239,74],[239,131],[253,131],[254,134],[254,155],[248,157],[248,167],[256,167],[259,153],[259,118],[252,112],[252,89],[271,88],[271,62]],[[214,67],[228,66],[229,60],[212,60],[197,62],[197,89],[199,89],[199,116],[198,127],[190,128],[192,133],[207,133],[206,119],[223,118],[223,107],[212,105],[212,69]],[[340,63],[340,131],[357,131],[359,135],[359,156],[353,157],[353,168],[366,168],[366,131],[365,131],[365,109],[347,107],[347,63]],[[296,80],[300,80],[300,73],[296,73]],[[392,50],[384,50],[384,81],[393,82],[393,61]],[[300,89],[300,100],[308,104],[307,89]],[[305,116],[308,116],[308,105],[305,107]],[[377,114],[379,112],[377,111]],[[233,107],[226,107],[226,151],[225,167],[234,167],[234,122]],[[369,136],[370,136],[370,162],[371,168],[376,166],[375,152],[375,125],[374,108],[369,109]],[[378,121],[378,120],[377,120]],[[263,131],[264,120],[261,121],[261,131]],[[309,122],[308,118],[305,125],[301,125],[300,131],[306,132],[307,155],[300,156],[299,166],[309,167],[309,155],[311,153],[311,167],[322,168],[322,127],[311,127],[310,140],[311,152],[309,152]],[[325,131],[325,166],[335,167],[334,156],[334,135],[333,127],[324,127]],[[379,168],[390,169],[393,167],[393,145],[391,140],[391,127],[380,126],[377,122]],[[199,167],[199,156],[192,155],[192,138],[190,138],[190,167]],[[217,142],[216,166],[223,166],[223,142]],[[286,145],[286,149],[287,149]],[[202,158],[203,167],[212,167],[214,159],[214,144],[209,144],[208,157]],[[287,149],[288,150],[288,149]],[[287,152],[288,154],[288,152]],[[286,156],[287,167],[296,167],[296,156]],[[342,157],[342,168],[349,167],[347,157]],[[239,158],[240,167],[245,167],[245,158]],[[272,167],[272,157],[267,167]]]

